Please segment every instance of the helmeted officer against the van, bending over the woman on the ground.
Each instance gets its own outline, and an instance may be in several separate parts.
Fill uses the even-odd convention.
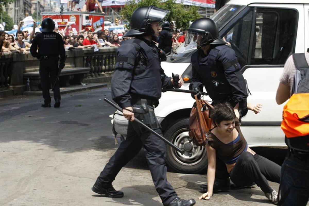
[[[194,21],[188,28],[185,46],[197,44],[191,56],[192,82],[190,90],[201,95],[203,87],[213,104],[229,102],[233,107],[239,103],[240,117],[247,114],[247,84],[233,49],[219,38],[216,24],[210,18]],[[201,185],[207,191],[207,184]],[[214,192],[230,189],[229,174],[222,160],[217,158]]]

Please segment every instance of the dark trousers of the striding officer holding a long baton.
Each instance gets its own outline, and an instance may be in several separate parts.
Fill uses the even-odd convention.
[[[151,108],[153,109],[153,107]],[[153,119],[153,117],[155,117],[154,112],[151,112],[151,116],[149,115],[150,112],[147,112],[146,114],[135,115],[135,117],[139,120],[143,120],[146,124],[149,122],[150,118],[157,122],[155,118]],[[157,125],[159,125],[159,123]],[[149,123],[148,126],[154,128],[151,123]],[[154,130],[162,135],[160,128],[155,128]],[[163,204],[168,204],[177,194],[166,179],[165,143],[152,133],[139,128],[136,122],[129,121],[128,133],[125,141],[121,142],[116,153],[105,165],[95,184],[99,187],[110,187],[121,168],[138,154],[142,146],[145,149],[145,155],[155,188]]]

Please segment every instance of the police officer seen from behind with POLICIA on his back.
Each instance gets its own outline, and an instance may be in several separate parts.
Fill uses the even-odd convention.
[[[55,23],[53,19],[46,18],[42,21],[42,33],[37,34],[32,40],[30,52],[33,57],[40,60],[40,78],[42,93],[44,98],[44,104],[42,107],[50,107],[51,98],[49,95],[49,87],[54,84],[54,107],[60,107],[60,88],[57,78],[59,69],[63,69],[65,66],[65,55],[64,41],[60,34],[53,32],[55,29]],[[37,49],[39,48],[39,52]],[[60,55],[60,64],[58,67],[58,60]],[[49,81],[49,76],[51,82]]]

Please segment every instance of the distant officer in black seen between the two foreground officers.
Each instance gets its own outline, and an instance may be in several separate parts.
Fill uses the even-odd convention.
[[[163,22],[161,27],[162,31],[159,35],[158,47],[167,54],[171,52],[172,49],[173,30],[171,29],[168,21]]]

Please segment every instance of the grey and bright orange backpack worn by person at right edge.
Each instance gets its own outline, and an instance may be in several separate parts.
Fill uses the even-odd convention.
[[[290,148],[309,152],[309,66],[304,53],[293,54],[293,59],[292,96],[283,107],[281,129]]]

